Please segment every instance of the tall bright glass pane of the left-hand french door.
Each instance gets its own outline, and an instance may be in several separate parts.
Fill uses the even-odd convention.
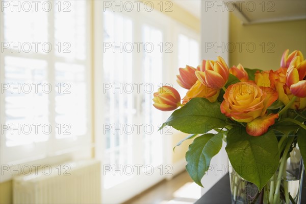
[[[104,88],[105,116],[104,128],[106,137],[106,151],[104,164],[121,165],[132,163],[132,138],[133,126],[132,93],[132,53],[120,50],[124,43],[132,42],[132,20],[114,12],[104,12],[104,43],[110,44],[110,49],[104,50]],[[116,48],[117,47],[117,48]],[[121,48],[120,48],[121,47]],[[130,84],[130,85],[129,85]],[[108,130],[109,129],[109,130]],[[120,173],[117,171],[118,174]],[[109,172],[105,177],[105,187],[110,188],[123,182],[131,176],[114,176]]]

